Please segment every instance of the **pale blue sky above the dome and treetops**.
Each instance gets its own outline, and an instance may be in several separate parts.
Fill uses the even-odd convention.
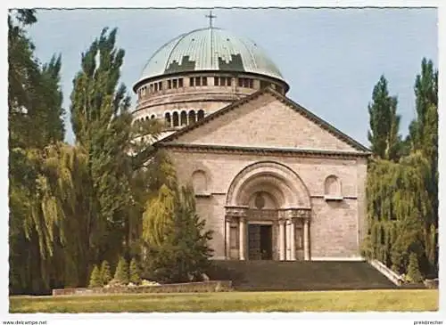
[[[62,54],[63,106],[69,112],[72,80],[81,53],[104,27],[118,28],[126,51],[121,81],[132,86],[151,55],[170,39],[205,28],[206,9],[38,10],[29,28],[40,61]],[[398,97],[401,134],[415,118],[415,77],[425,57],[438,66],[437,10],[214,9],[213,24],[255,41],[290,85],[287,96],[328,123],[368,145],[368,103],[384,74]],[[67,114],[66,140],[74,142]],[[298,130],[296,130],[296,135]]]

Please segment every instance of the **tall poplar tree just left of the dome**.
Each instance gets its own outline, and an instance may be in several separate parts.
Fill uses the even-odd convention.
[[[92,259],[120,255],[126,210],[131,205],[125,173],[130,99],[119,85],[124,50],[117,49],[117,29],[104,28],[82,54],[81,70],[73,80],[71,124],[79,145],[87,150],[92,197]],[[123,161],[124,160],[124,161]]]

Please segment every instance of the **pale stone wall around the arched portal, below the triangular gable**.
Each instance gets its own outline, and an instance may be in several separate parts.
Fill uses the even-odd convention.
[[[214,258],[226,256],[226,210],[227,191],[244,168],[263,161],[282,164],[301,178],[310,192],[310,256],[311,258],[359,257],[359,238],[365,217],[362,212],[365,202],[365,158],[356,157],[301,157],[265,153],[234,153],[224,150],[194,150],[193,148],[169,147],[169,156],[178,171],[180,183],[193,182],[192,175],[202,170],[207,186],[197,192],[198,213],[214,231],[212,248]],[[326,200],[324,181],[336,175],[342,183],[343,199]],[[303,254],[300,253],[301,255]],[[231,252],[235,258],[237,249]],[[277,251],[275,256],[278,256]],[[278,258],[277,258],[278,259]]]

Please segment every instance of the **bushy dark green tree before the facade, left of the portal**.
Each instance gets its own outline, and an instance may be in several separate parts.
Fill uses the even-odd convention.
[[[147,204],[144,218],[147,277],[160,282],[202,280],[209,267],[211,231],[196,214],[192,189],[164,187],[161,197]]]

